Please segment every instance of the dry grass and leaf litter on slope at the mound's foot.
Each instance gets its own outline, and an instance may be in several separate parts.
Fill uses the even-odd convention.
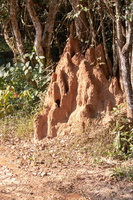
[[[74,124],[73,126],[76,127]],[[85,132],[82,127],[77,127],[65,135],[61,134],[53,139],[45,138],[38,142],[34,158],[36,162],[41,162],[45,157],[47,167],[88,163],[92,158],[94,160],[109,155],[113,148],[113,139],[109,127],[103,128],[99,124],[96,127],[95,120],[91,120],[91,126],[89,123]]]

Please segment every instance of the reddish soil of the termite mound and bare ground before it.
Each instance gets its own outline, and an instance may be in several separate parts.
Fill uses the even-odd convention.
[[[52,75],[45,109],[34,124],[37,143],[12,137],[9,130],[5,139],[0,134],[1,200],[133,200],[133,182],[112,176],[112,170],[131,166],[132,160],[97,154],[106,150],[97,122],[83,135],[88,119],[100,121],[104,112],[104,123],[112,120],[110,111],[123,102],[123,92],[109,76],[102,46],[82,55],[78,43],[68,41]]]

